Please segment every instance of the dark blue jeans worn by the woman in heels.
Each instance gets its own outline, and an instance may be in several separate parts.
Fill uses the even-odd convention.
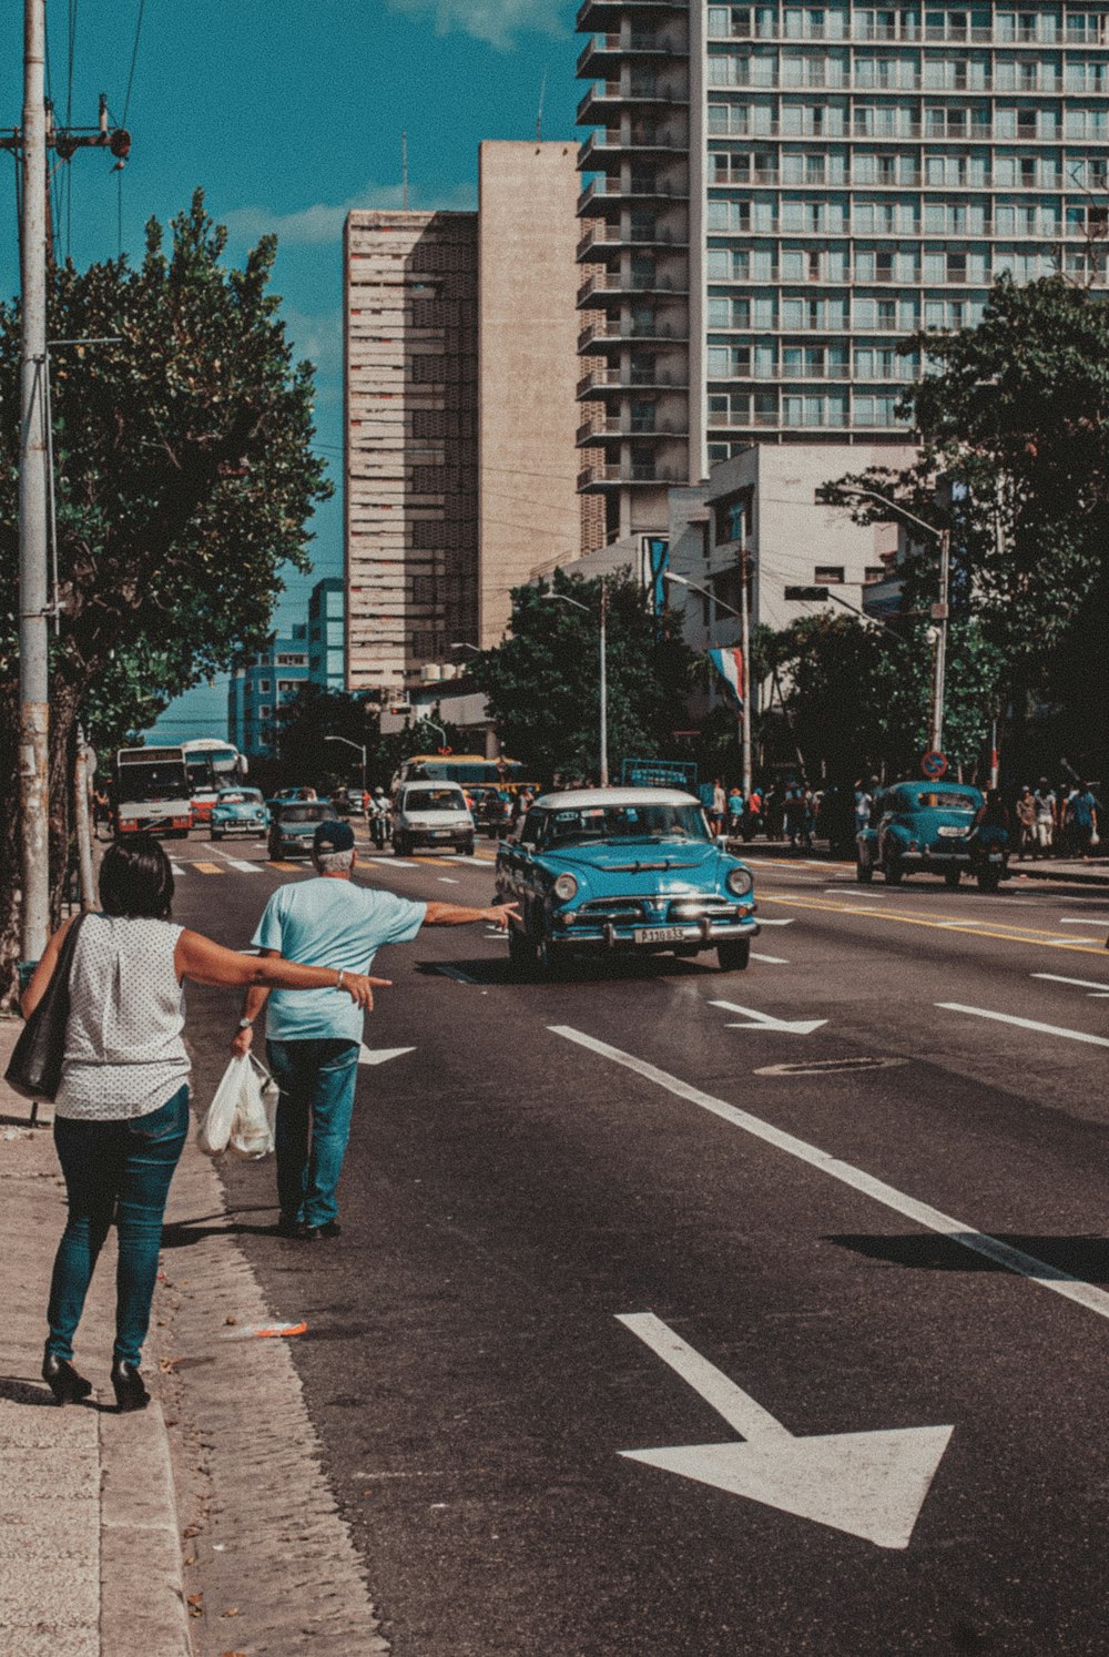
[[[189,1132],[189,1089],[126,1122],[55,1117],[70,1218],[50,1281],[46,1350],[73,1357],[96,1259],[113,1220],[119,1234],[113,1357],[138,1364],[151,1321],[169,1181]]]

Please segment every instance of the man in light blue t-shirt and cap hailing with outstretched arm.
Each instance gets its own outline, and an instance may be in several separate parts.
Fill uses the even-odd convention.
[[[305,966],[333,966],[341,974],[368,973],[386,943],[411,943],[421,926],[494,921],[502,930],[511,905],[474,910],[461,903],[411,903],[393,891],[351,883],[355,833],[350,824],[325,822],[312,840],[318,880],[280,886],[265,905],[252,943],[262,954],[282,954]],[[371,979],[388,984],[388,978]],[[254,1021],[267,1006],[267,1054],[280,1089],[277,1104],[278,1236],[312,1239],[340,1233],[335,1188],[343,1171],[358,1079],[361,1007],[335,989],[250,988],[235,1052],[249,1052]]]

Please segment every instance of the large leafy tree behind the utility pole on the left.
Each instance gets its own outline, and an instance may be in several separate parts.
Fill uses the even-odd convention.
[[[78,717],[109,751],[172,696],[259,650],[285,563],[330,486],[312,452],[310,363],[295,363],[269,292],[275,242],[242,270],[197,192],[151,220],[146,255],[51,273],[51,338],[118,338],[55,355],[61,628],[51,643],[55,896]],[[18,916],[15,794],[18,305],[0,307],[0,986]]]

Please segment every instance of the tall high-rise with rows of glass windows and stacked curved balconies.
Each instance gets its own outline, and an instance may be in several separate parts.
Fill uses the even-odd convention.
[[[610,529],[751,442],[903,442],[920,328],[1106,282],[1109,7],[584,0],[580,487]]]

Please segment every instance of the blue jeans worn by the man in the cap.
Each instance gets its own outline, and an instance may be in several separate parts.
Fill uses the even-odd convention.
[[[267,1052],[282,1094],[275,1135],[282,1220],[322,1226],[338,1215],[335,1186],[350,1138],[358,1042],[272,1041]]]

